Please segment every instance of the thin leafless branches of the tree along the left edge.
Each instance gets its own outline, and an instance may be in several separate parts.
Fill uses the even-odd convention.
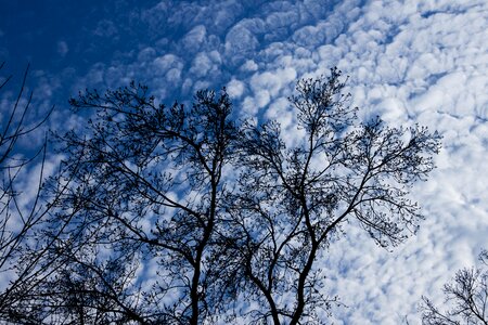
[[[4,63],[0,64],[0,70],[3,66]],[[9,110],[3,112],[0,120],[0,320],[22,317],[20,304],[39,285],[46,271],[40,266],[46,250],[36,249],[31,242],[36,237],[36,227],[50,210],[50,205],[41,200],[47,140],[30,155],[20,142],[41,131],[53,107],[41,120],[30,120],[33,92],[24,98],[28,70],[29,66]],[[11,80],[12,75],[2,78],[0,90],[4,91]],[[7,95],[4,100],[4,103],[9,102]],[[23,173],[36,166],[40,166],[39,176],[29,185],[34,196],[26,197]]]

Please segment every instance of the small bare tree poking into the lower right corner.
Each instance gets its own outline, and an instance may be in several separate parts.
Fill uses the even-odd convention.
[[[444,286],[446,304],[451,309],[441,311],[423,297],[422,324],[488,324],[488,251],[479,255],[479,261],[483,268],[462,269]]]

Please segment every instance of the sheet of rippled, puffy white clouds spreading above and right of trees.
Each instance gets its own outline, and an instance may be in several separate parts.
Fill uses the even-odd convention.
[[[338,65],[362,117],[438,130],[438,168],[412,191],[426,216],[418,236],[389,252],[351,222],[321,259],[325,290],[350,307],[333,311],[337,324],[398,324],[403,315],[419,324],[420,297],[440,302],[442,284],[486,245],[488,3],[265,2],[160,1],[140,16],[159,42],[141,39],[126,61],[94,64],[84,82],[139,78],[162,100],[226,84],[241,115],[277,119],[292,142],[301,135],[286,100],[296,79]]]

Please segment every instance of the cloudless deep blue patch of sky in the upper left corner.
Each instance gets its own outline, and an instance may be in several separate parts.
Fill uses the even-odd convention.
[[[134,18],[134,3],[157,1],[0,1],[0,58],[15,69],[80,74],[117,52],[137,48],[145,26]],[[137,8],[136,8],[137,9]]]

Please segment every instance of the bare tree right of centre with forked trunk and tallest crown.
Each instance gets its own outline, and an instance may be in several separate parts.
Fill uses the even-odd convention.
[[[361,122],[344,86],[337,69],[298,82],[291,102],[303,138],[291,147],[275,121],[243,128],[226,263],[241,265],[236,278],[253,323],[320,323],[318,311],[328,312],[335,297],[326,296],[317,259],[347,222],[387,247],[422,219],[409,188],[434,168],[439,135],[388,128],[380,118]]]

